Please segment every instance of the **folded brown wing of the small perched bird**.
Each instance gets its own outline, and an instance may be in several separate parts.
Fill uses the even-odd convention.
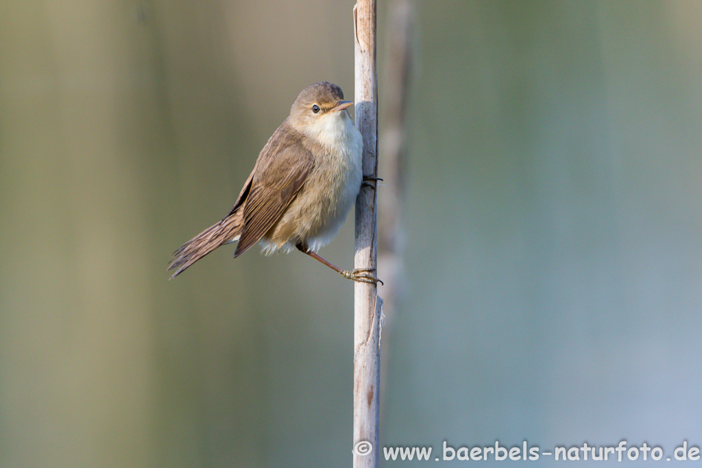
[[[244,205],[244,229],[239,238],[238,257],[258,242],[280,219],[314,167],[312,152],[298,138],[272,138],[257,161]],[[263,155],[262,155],[263,156]]]

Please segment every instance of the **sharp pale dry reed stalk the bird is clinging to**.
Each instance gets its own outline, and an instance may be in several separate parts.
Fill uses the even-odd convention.
[[[376,176],[376,0],[357,2],[354,8],[354,23],[356,126],[363,135],[363,173],[365,176]],[[373,181],[364,183],[356,199],[356,268],[377,266],[376,185]],[[378,467],[380,455],[380,316],[383,300],[378,297],[375,284],[354,284],[353,466],[375,468]]]

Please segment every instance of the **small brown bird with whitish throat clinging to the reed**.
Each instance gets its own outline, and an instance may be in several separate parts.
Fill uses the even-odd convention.
[[[303,89],[258,154],[234,208],[173,253],[171,279],[225,243],[239,241],[237,258],[260,241],[266,254],[297,248],[347,279],[377,283],[373,269],[343,271],[317,255],[343,225],[363,179],[352,104],[326,81]]]

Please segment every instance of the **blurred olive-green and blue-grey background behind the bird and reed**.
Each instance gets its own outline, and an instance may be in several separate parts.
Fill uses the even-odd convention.
[[[0,3],[0,466],[350,465],[352,284],[166,266],[303,87],[353,98],[352,6]],[[699,446],[702,3],[415,15],[381,445]]]

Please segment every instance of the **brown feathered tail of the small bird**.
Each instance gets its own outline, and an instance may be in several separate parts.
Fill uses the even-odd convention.
[[[176,273],[171,276],[171,279],[219,246],[238,241],[241,234],[241,224],[241,210],[237,210],[183,244],[182,247],[173,252],[173,260],[168,266],[169,270],[176,269]]]

